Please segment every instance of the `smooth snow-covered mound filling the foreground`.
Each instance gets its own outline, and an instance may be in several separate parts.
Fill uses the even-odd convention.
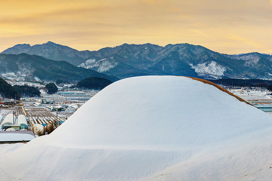
[[[272,116],[203,82],[107,86],[50,135],[0,145],[1,180],[271,180]]]

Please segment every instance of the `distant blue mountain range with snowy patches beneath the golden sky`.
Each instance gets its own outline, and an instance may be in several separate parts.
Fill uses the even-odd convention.
[[[239,55],[221,54],[188,43],[123,44],[98,51],[78,51],[47,42],[42,45],[18,44],[4,54],[27,53],[74,66],[126,78],[140,75],[178,75],[199,78],[272,79],[272,56],[252,52]]]

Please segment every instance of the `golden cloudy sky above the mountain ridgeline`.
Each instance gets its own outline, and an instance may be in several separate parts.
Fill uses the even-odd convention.
[[[52,41],[77,50],[190,43],[272,54],[272,0],[0,0],[0,51]]]

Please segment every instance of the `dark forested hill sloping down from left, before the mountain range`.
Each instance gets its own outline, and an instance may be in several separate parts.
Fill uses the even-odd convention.
[[[27,80],[40,79],[43,81],[80,81],[83,78],[97,76],[117,81],[115,76],[105,75],[90,69],[76,67],[67,61],[53,61],[42,56],[21,53],[0,54],[0,73],[14,72],[15,75],[24,76]]]

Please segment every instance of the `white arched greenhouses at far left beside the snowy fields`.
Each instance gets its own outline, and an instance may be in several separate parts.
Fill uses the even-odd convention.
[[[13,114],[9,114],[3,118],[3,115],[0,115],[0,122],[1,122],[1,130],[27,130],[28,129],[28,122],[26,120],[25,115],[18,115],[15,116]]]

